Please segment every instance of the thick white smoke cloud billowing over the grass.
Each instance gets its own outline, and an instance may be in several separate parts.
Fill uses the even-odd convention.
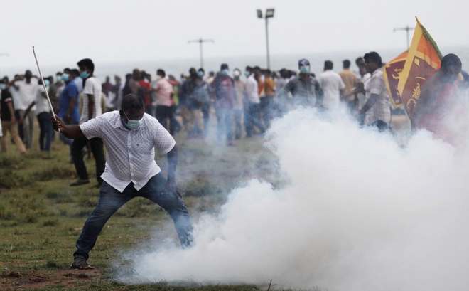
[[[234,189],[197,220],[193,248],[132,253],[140,279],[469,290],[468,154],[425,131],[401,147],[306,109],[274,122],[266,145],[289,184]]]

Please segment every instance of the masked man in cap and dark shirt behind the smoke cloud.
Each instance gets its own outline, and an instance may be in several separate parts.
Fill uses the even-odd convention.
[[[300,74],[286,83],[279,95],[293,96],[294,105],[318,107],[323,104],[323,89],[318,80],[311,76],[309,60],[298,60]]]

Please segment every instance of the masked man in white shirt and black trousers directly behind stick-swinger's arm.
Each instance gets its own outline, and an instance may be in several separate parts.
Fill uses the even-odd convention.
[[[93,77],[93,72],[95,71],[95,64],[89,58],[80,60],[78,63],[78,68],[80,68],[80,77],[85,80],[85,87],[83,88],[83,107],[80,115],[79,124],[83,124],[92,118],[98,117],[102,114],[101,108],[101,83],[95,77]],[[104,158],[104,146],[102,139],[95,137],[90,139],[90,147],[95,157],[96,163],[96,179],[97,187],[102,185],[101,175],[104,172],[104,166],[106,164],[106,159]],[[80,137],[73,140],[72,143],[72,158],[73,163],[75,164],[75,169],[77,170],[78,180],[70,184],[70,186],[80,186],[83,184],[90,183],[88,179],[88,172],[83,162],[83,153],[82,149],[88,143],[86,137]]]

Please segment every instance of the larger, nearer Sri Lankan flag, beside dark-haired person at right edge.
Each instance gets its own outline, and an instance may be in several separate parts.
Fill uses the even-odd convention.
[[[419,101],[421,88],[426,79],[440,68],[441,58],[443,58],[438,46],[430,33],[421,25],[419,18],[416,18],[416,21],[409,53],[397,84],[402,104],[409,117]]]

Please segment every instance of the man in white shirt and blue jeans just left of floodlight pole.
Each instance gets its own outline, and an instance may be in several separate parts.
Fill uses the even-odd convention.
[[[260,115],[260,98],[259,98],[259,84],[254,78],[254,70],[247,66],[244,72],[246,76],[246,106],[244,106],[244,127],[246,128],[246,137],[251,137],[254,127],[257,127],[261,133],[265,129],[259,119]]]

